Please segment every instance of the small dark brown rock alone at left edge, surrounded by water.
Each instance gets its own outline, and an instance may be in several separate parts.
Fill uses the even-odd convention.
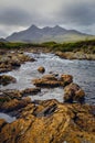
[[[13,82],[17,82],[17,79],[12,76],[8,76],[8,75],[2,75],[0,76],[0,85],[8,85],[8,84],[13,84]]]

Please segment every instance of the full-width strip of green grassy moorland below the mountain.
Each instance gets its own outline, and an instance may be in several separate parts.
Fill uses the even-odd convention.
[[[45,43],[0,43],[1,48],[48,48],[52,52],[77,52],[82,51],[85,53],[95,54],[95,40],[85,40],[77,42],[45,42]]]

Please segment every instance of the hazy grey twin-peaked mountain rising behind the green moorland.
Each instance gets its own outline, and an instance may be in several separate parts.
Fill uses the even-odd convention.
[[[59,25],[55,25],[54,28],[45,26],[43,29],[31,25],[24,31],[13,33],[6,40],[10,42],[64,42],[83,40],[86,37],[89,37],[89,35],[75,30],[66,30]]]

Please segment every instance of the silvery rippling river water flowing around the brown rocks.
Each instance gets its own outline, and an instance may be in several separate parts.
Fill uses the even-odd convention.
[[[85,102],[95,105],[95,61],[68,61],[62,59],[54,54],[32,54],[25,53],[32,56],[36,62],[27,62],[21,65],[17,70],[7,73],[17,78],[17,84],[10,84],[8,86],[0,86],[1,89],[24,89],[34,87],[32,79],[42,76],[36,69],[39,66],[45,67],[45,74],[53,72],[59,74],[70,74],[74,77],[74,82],[78,84],[86,92]],[[40,99],[57,99],[63,102],[64,90],[62,88],[42,89],[41,94],[36,96],[30,96],[32,100]]]

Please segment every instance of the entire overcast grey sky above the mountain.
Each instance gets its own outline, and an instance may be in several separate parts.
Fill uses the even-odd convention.
[[[0,37],[32,24],[95,34],[95,0],[0,0]]]

